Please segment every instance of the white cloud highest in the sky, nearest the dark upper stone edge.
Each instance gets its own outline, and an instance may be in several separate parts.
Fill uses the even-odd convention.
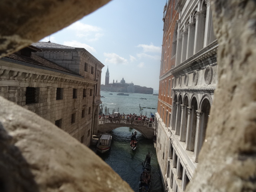
[[[84,37],[88,41],[96,41],[99,40],[100,37],[104,36],[100,27],[84,24],[80,21],[74,22],[68,26],[67,29],[74,30],[76,36],[79,38]]]

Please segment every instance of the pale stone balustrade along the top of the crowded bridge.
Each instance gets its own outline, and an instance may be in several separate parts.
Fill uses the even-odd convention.
[[[99,124],[126,124],[154,128],[154,122],[150,123],[149,121],[145,120],[132,120],[125,118],[104,118],[99,120]]]

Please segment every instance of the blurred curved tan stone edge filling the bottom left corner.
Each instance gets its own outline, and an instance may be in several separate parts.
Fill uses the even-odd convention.
[[[132,192],[68,133],[0,97],[1,192]]]

